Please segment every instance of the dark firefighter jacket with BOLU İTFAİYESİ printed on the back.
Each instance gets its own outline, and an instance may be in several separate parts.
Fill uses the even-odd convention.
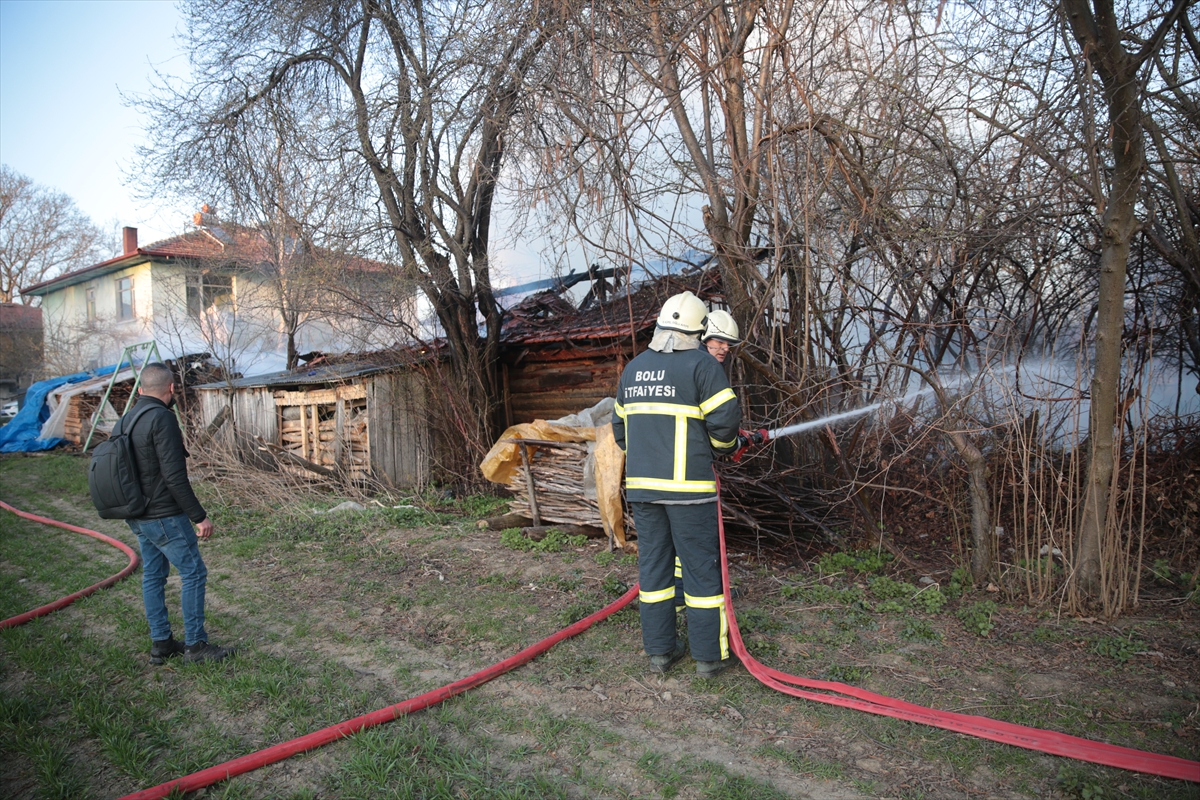
[[[740,422],[725,369],[706,350],[643,351],[620,374],[612,416],[629,501],[715,497],[713,452],[737,446]]]

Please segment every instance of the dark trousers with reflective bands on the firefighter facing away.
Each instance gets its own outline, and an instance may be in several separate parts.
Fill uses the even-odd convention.
[[[720,661],[730,655],[728,618],[721,587],[716,504],[631,503],[637,525],[642,646],[666,655],[676,646],[676,557],[683,571],[691,656]]]

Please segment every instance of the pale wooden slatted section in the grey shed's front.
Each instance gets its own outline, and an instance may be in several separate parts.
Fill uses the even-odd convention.
[[[364,385],[276,392],[275,404],[284,452],[341,470],[350,480],[370,475],[371,438]],[[305,474],[295,464],[284,463],[283,469]]]

